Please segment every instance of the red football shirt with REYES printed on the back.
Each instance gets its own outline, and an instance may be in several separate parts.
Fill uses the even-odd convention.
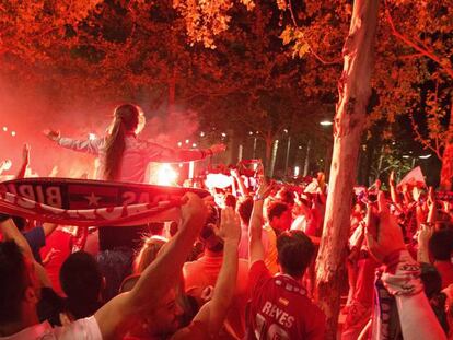
[[[325,315],[287,274],[271,277],[264,261],[252,265],[247,339],[324,339]]]

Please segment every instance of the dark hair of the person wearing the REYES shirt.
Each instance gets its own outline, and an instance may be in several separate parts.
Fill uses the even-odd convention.
[[[315,247],[301,231],[287,231],[277,237],[278,262],[284,273],[301,278],[312,261]]]

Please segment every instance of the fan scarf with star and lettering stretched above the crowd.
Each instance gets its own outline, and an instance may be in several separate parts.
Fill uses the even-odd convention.
[[[181,206],[191,188],[67,178],[24,178],[0,184],[0,212],[62,225],[139,225]]]

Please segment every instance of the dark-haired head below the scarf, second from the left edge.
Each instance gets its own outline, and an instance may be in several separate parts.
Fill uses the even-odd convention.
[[[103,277],[96,260],[85,251],[71,254],[62,263],[60,269],[61,289],[68,296],[70,312],[77,318],[89,316],[90,312],[95,312],[95,309],[86,309],[97,306],[102,282]]]

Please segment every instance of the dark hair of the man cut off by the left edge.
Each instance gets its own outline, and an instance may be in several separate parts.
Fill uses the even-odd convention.
[[[0,324],[19,321],[21,302],[31,285],[28,268],[13,241],[0,243]]]

